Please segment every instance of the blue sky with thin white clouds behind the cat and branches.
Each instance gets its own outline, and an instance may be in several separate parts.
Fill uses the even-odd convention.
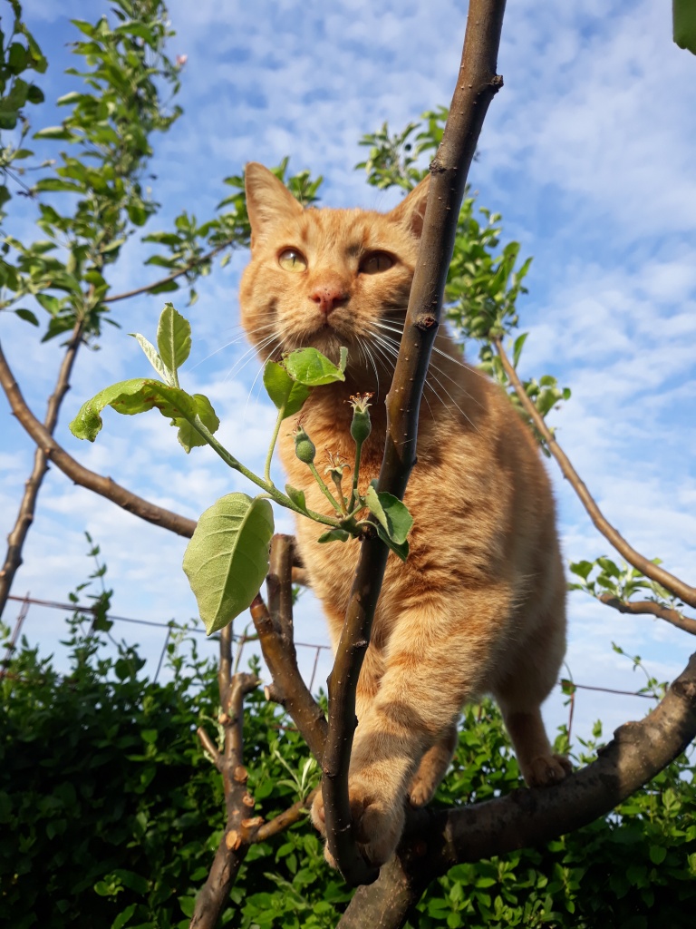
[[[102,9],[108,5],[94,0],[26,3],[30,28],[51,62],[42,79],[48,99],[74,86],[62,75],[72,63],[69,19],[94,20]],[[395,191],[369,188],[354,171],[364,155],[358,139],[385,120],[398,129],[448,103],[466,5],[175,0],[170,13],[177,32],[171,53],[188,57],[179,98],[185,115],[156,143],[153,194],[163,207],[152,229],[168,228],[182,208],[199,218],[212,215],[229,190],[223,177],[247,161],[277,164],[285,155],[291,170],[324,175],[327,205],[391,207]],[[572,388],[573,398],[551,417],[561,445],[625,537],[694,582],[696,59],[672,44],[670,29],[668,10],[649,0],[588,0],[582,9],[511,0],[498,62],[505,86],[491,105],[470,183],[481,205],[503,215],[505,240],[519,240],[522,255],[534,255],[530,293],[519,303],[522,330],[530,332],[522,373],[553,373]],[[31,115],[36,127],[57,121],[50,106],[32,108]],[[16,198],[11,209],[17,213],[8,229],[30,239],[32,204]],[[129,244],[113,277],[116,291],[156,276],[142,267],[144,255],[137,240]],[[243,460],[258,464],[273,413],[257,399],[258,380],[252,386],[255,361],[234,370],[246,351],[243,342],[232,344],[244,261],[239,253],[201,281],[195,307],[186,310],[184,294],[174,294],[174,303],[193,325],[188,388],[210,394],[233,451],[241,427]],[[67,431],[73,412],[98,387],[147,370],[126,333],[151,338],[161,303],[144,296],[118,306],[122,330],[107,327],[102,350],[84,352],[78,361],[58,439],[87,466],[197,517],[216,496],[247,488],[212,454],[197,450],[187,458],[154,413],[135,420],[109,416],[91,447]],[[43,412],[58,343],[40,346],[14,317],[0,320],[0,337],[25,396]],[[6,532],[32,447],[4,403],[0,416]],[[609,554],[555,465],[549,468],[565,555]],[[278,521],[291,530],[289,519],[279,515]],[[88,567],[85,529],[108,562],[114,612],[161,620],[194,615],[179,569],[185,543],[72,487],[56,469],[42,490],[14,592],[64,599]],[[316,604],[309,595],[302,604],[299,635],[326,641]],[[54,648],[62,634],[58,616],[32,608],[27,634]],[[581,594],[571,596],[570,617],[568,664],[586,684],[635,689],[642,683],[612,652],[612,641],[639,653],[661,679],[676,674],[693,648],[689,636],[664,622],[622,617]],[[159,653],[160,636],[138,637]],[[327,670],[322,666],[321,676]],[[638,700],[584,694],[579,725],[586,732],[601,715],[609,729],[643,709]],[[564,713],[560,698],[550,701],[552,724]]]

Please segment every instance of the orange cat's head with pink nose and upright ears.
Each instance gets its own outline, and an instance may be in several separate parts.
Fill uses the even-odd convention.
[[[262,164],[246,168],[251,262],[241,321],[263,359],[313,346],[349,370],[393,366],[419,253],[428,178],[390,213],[303,209]],[[368,364],[368,358],[371,360]]]

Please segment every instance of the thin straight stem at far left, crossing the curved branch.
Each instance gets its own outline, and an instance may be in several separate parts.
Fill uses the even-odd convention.
[[[60,364],[56,386],[48,399],[44,429],[49,436],[53,434],[56,424],[58,423],[60,404],[63,402],[63,398],[68,390],[70,390],[72,366],[75,362],[77,351],[82,343],[83,330],[84,321],[77,321],[72,329],[68,347],[66,348],[65,355]],[[45,473],[48,470],[46,459],[47,455],[45,450],[39,446],[36,451],[34,451],[32,474],[25,485],[24,495],[19,504],[17,520],[13,529],[7,536],[5,563],[2,569],[0,569],[0,616],[2,616],[3,610],[5,609],[7,596],[12,587],[15,574],[21,565],[21,552],[24,547],[24,540],[29,532],[29,527],[32,525],[36,500],[44,481]]]

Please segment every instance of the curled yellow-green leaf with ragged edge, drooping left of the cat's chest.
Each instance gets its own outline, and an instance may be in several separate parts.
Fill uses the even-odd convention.
[[[146,378],[121,381],[83,403],[70,424],[72,435],[93,442],[102,426],[99,413],[106,406],[126,416],[157,408],[168,419],[193,419],[197,410],[195,400],[178,387]]]

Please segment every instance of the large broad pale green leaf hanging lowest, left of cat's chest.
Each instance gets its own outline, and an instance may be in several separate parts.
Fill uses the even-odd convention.
[[[251,605],[268,572],[272,535],[271,504],[246,493],[228,493],[200,517],[184,570],[208,635]]]

